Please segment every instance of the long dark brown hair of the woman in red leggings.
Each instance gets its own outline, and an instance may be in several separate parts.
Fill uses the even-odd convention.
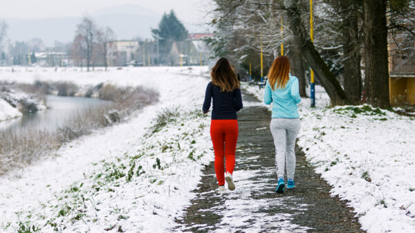
[[[229,61],[225,57],[221,57],[216,62],[212,72],[210,72],[210,77],[212,77],[212,84],[219,86],[221,91],[232,91],[239,88],[237,74],[230,67]]]

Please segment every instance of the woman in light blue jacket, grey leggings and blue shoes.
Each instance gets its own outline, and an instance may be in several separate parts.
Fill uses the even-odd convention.
[[[288,57],[279,56],[268,72],[268,82],[264,93],[265,104],[273,103],[270,130],[275,144],[275,166],[277,167],[278,186],[276,191],[284,192],[284,174],[287,167],[287,188],[295,186],[295,139],[300,122],[297,104],[301,102],[298,91],[298,79],[290,74]]]

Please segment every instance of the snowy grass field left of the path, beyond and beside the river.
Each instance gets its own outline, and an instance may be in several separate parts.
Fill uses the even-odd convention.
[[[0,178],[0,232],[165,232],[212,160],[207,67],[77,72],[3,68],[0,80],[147,86],[160,102]],[[201,91],[202,90],[202,91]],[[159,117],[158,117],[159,116]],[[158,118],[157,118],[158,117]]]

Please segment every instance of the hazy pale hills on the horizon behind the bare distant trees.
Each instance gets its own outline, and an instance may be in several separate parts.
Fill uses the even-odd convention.
[[[150,38],[150,28],[156,28],[161,19],[160,14],[132,4],[103,8],[93,12],[91,17],[100,27],[110,26],[116,32],[117,39]],[[5,19],[8,37],[12,41],[40,38],[46,46],[53,45],[55,40],[64,43],[72,41],[80,20],[81,17]]]

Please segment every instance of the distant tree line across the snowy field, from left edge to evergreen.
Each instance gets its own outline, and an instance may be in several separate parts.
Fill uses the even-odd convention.
[[[80,24],[76,26],[75,37],[71,43],[62,44],[55,42],[54,47],[45,48],[40,39],[15,41],[13,44],[8,44],[8,49],[6,49],[5,53],[2,45],[6,37],[6,30],[6,22],[0,21],[0,64],[30,65],[35,62],[36,58],[33,54],[35,52],[64,52],[68,53],[69,64],[86,66],[87,71],[90,68],[94,69],[95,66],[105,66],[107,70],[107,66],[109,66],[109,61],[107,60],[109,58],[109,42],[116,39],[115,33],[111,28],[108,26],[100,28],[89,15],[84,15]],[[142,51],[137,50],[131,53],[132,59],[143,59],[142,63],[144,64],[147,61],[147,55],[151,54],[153,63],[167,64],[173,42],[184,41],[188,36],[185,26],[178,20],[173,10],[168,14],[165,13],[158,24],[158,28],[151,29],[151,32],[156,42],[140,43]],[[139,38],[136,40],[141,41]],[[145,58],[142,58],[143,53],[145,53]],[[113,55],[114,57],[117,59],[116,63],[118,59],[122,61],[120,54],[117,53]],[[53,64],[55,63],[52,62],[52,64],[48,65]]]

